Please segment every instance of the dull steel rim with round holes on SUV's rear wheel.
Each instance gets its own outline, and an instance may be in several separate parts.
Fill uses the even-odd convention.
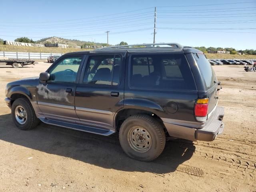
[[[130,147],[137,152],[147,152],[152,146],[152,138],[148,130],[141,126],[134,126],[128,132]]]

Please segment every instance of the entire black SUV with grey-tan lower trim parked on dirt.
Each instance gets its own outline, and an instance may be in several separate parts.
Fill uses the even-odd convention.
[[[6,104],[22,130],[39,120],[109,136],[150,161],[166,137],[212,141],[224,129],[220,90],[203,52],[179,44],[114,46],[67,53],[40,77],[10,82]]]

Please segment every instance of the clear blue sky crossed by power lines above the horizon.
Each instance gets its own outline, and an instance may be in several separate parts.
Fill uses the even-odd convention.
[[[256,49],[256,0],[0,0],[0,38]]]

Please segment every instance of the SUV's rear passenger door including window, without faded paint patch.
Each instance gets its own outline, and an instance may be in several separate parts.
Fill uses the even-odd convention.
[[[88,55],[76,88],[75,108],[80,121],[113,128],[114,115],[124,106],[124,67],[121,54]]]

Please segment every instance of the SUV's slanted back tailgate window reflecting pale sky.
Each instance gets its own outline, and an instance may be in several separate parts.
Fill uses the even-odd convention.
[[[209,89],[214,85],[214,80],[216,76],[210,62],[206,59],[206,56],[203,54],[193,54],[201,73],[203,74],[206,87]]]

